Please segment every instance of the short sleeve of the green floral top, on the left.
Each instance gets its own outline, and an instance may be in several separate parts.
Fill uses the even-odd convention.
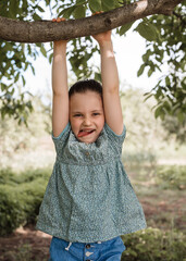
[[[69,136],[70,136],[70,132],[71,132],[71,124],[67,123],[65,128],[62,130],[62,133],[58,137],[54,137],[53,133],[52,133],[52,140],[54,142],[57,153],[59,151],[61,151],[64,148],[64,146],[66,145]]]

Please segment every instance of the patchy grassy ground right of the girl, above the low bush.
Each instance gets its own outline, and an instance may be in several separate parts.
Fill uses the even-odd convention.
[[[126,167],[134,190],[144,207],[148,226],[163,231],[184,229],[186,192],[183,189],[185,182],[183,173],[185,170],[185,166],[177,165],[152,167],[147,164],[133,164]],[[166,171],[175,177],[174,183],[170,179]],[[160,175],[160,178],[158,174],[162,174],[162,172],[164,175]]]

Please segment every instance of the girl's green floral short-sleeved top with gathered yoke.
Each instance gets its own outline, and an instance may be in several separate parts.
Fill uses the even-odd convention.
[[[57,160],[37,228],[67,241],[94,243],[146,227],[144,211],[122,164],[126,129],[104,124],[94,144],[76,139],[70,123],[52,137]]]

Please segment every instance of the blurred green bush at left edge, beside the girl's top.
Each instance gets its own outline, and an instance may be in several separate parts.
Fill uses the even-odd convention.
[[[0,235],[13,232],[20,225],[35,223],[50,170],[14,174],[0,172]]]

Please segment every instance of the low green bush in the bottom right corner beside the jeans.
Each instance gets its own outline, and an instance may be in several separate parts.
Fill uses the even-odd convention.
[[[122,236],[126,250],[122,261],[181,261],[186,258],[186,238],[182,233],[147,228]]]

